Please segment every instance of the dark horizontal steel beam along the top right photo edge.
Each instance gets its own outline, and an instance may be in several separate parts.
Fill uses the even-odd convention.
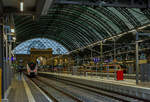
[[[97,0],[96,2],[56,0],[55,3],[103,7],[150,8],[149,0],[126,0],[124,2],[122,0]]]

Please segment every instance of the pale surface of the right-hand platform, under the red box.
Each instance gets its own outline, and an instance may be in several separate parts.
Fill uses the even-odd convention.
[[[52,72],[40,72],[45,74],[54,74],[59,76],[65,76],[65,77],[73,77],[73,78],[81,78],[85,80],[92,80],[92,81],[99,81],[104,83],[110,83],[110,84],[116,84],[116,85],[123,85],[123,86],[132,86],[137,88],[144,88],[144,89],[150,89],[150,86],[141,86],[136,85],[136,80],[133,79],[124,79],[124,80],[115,80],[112,77],[100,77],[100,76],[81,76],[81,75],[72,75],[72,74],[64,74],[64,73],[52,73]]]

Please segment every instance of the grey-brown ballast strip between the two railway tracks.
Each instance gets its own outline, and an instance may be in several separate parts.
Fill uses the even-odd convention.
[[[54,81],[54,80],[50,80],[50,79],[46,79],[46,78],[42,78],[42,77],[38,77],[39,81],[46,81],[46,83],[50,84],[51,86],[55,86],[58,89],[67,92],[68,94],[80,99],[83,102],[106,102],[104,101],[104,98],[106,100],[106,97],[103,97],[101,95],[98,94],[94,94],[92,92],[89,91],[85,91],[81,88],[76,88],[76,87],[72,87],[70,85],[66,85],[63,83],[60,83],[58,81]],[[107,101],[107,102],[114,102],[114,101]]]

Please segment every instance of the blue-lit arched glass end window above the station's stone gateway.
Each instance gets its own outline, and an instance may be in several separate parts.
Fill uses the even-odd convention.
[[[46,38],[35,38],[19,44],[14,50],[14,54],[30,54],[30,49],[48,49],[52,48],[53,54],[67,54],[68,50],[54,40]]]

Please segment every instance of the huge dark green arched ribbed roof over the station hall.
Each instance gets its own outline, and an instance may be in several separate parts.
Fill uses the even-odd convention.
[[[38,20],[14,18],[18,41],[47,37],[74,50],[150,23],[150,10],[57,4]]]

